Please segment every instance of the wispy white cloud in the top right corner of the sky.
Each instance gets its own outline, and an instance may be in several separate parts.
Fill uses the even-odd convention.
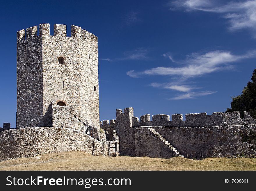
[[[225,2],[223,4],[223,2]],[[170,10],[205,11],[220,13],[230,23],[231,31],[249,29],[256,38],[256,0],[246,1],[210,1],[210,0],[178,0],[170,1]]]

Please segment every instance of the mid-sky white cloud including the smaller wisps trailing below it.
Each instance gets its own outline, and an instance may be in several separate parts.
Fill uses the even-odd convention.
[[[169,58],[167,54],[166,57]],[[182,67],[156,67],[141,72],[130,70],[126,74],[133,78],[139,78],[145,75],[172,76],[172,82],[151,83],[150,86],[154,88],[185,92],[184,94],[179,94],[169,100],[192,99],[214,94],[216,91],[197,91],[197,89],[202,89],[202,87],[191,85],[191,82],[188,82],[189,78],[225,69],[231,69],[233,62],[253,57],[256,57],[256,51],[250,51],[242,55],[234,55],[229,51],[221,50],[209,51],[207,53],[197,52],[187,55],[184,60],[179,60]]]

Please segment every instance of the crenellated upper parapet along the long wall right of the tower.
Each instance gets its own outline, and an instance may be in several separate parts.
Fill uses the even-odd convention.
[[[125,110],[129,108],[125,108]],[[206,113],[191,113],[186,114],[186,120],[183,121],[182,114],[172,115],[172,121],[170,121],[170,116],[165,114],[153,115],[152,121],[150,121],[150,114],[145,114],[140,117],[131,116],[133,115],[133,108],[130,113],[126,116],[116,115],[116,120],[104,120],[103,124],[100,122],[101,128],[115,128],[118,126],[124,126],[124,123],[127,123],[127,120],[130,121],[130,126],[140,127],[140,126],[165,126],[165,127],[211,127],[211,126],[229,126],[229,125],[244,125],[244,124],[256,124],[256,120],[253,119],[250,115],[250,111],[244,112],[244,118],[240,118],[240,112],[216,112],[212,115],[206,115]],[[122,110],[117,110],[117,112],[122,112]],[[119,122],[119,123],[118,123]]]

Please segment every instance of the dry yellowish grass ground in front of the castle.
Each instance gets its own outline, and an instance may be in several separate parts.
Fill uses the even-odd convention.
[[[256,170],[256,158],[103,157],[73,151],[1,161],[0,170]]]

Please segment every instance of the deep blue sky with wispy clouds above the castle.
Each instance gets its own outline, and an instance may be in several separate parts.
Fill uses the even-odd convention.
[[[256,1],[1,1],[0,126],[16,126],[16,32],[98,37],[100,120],[225,111],[256,68]]]

